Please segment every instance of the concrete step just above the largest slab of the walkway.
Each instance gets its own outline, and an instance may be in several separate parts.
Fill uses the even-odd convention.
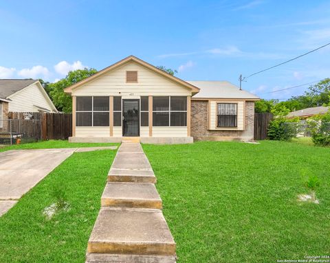
[[[162,199],[153,183],[107,183],[101,205],[162,209]]]

